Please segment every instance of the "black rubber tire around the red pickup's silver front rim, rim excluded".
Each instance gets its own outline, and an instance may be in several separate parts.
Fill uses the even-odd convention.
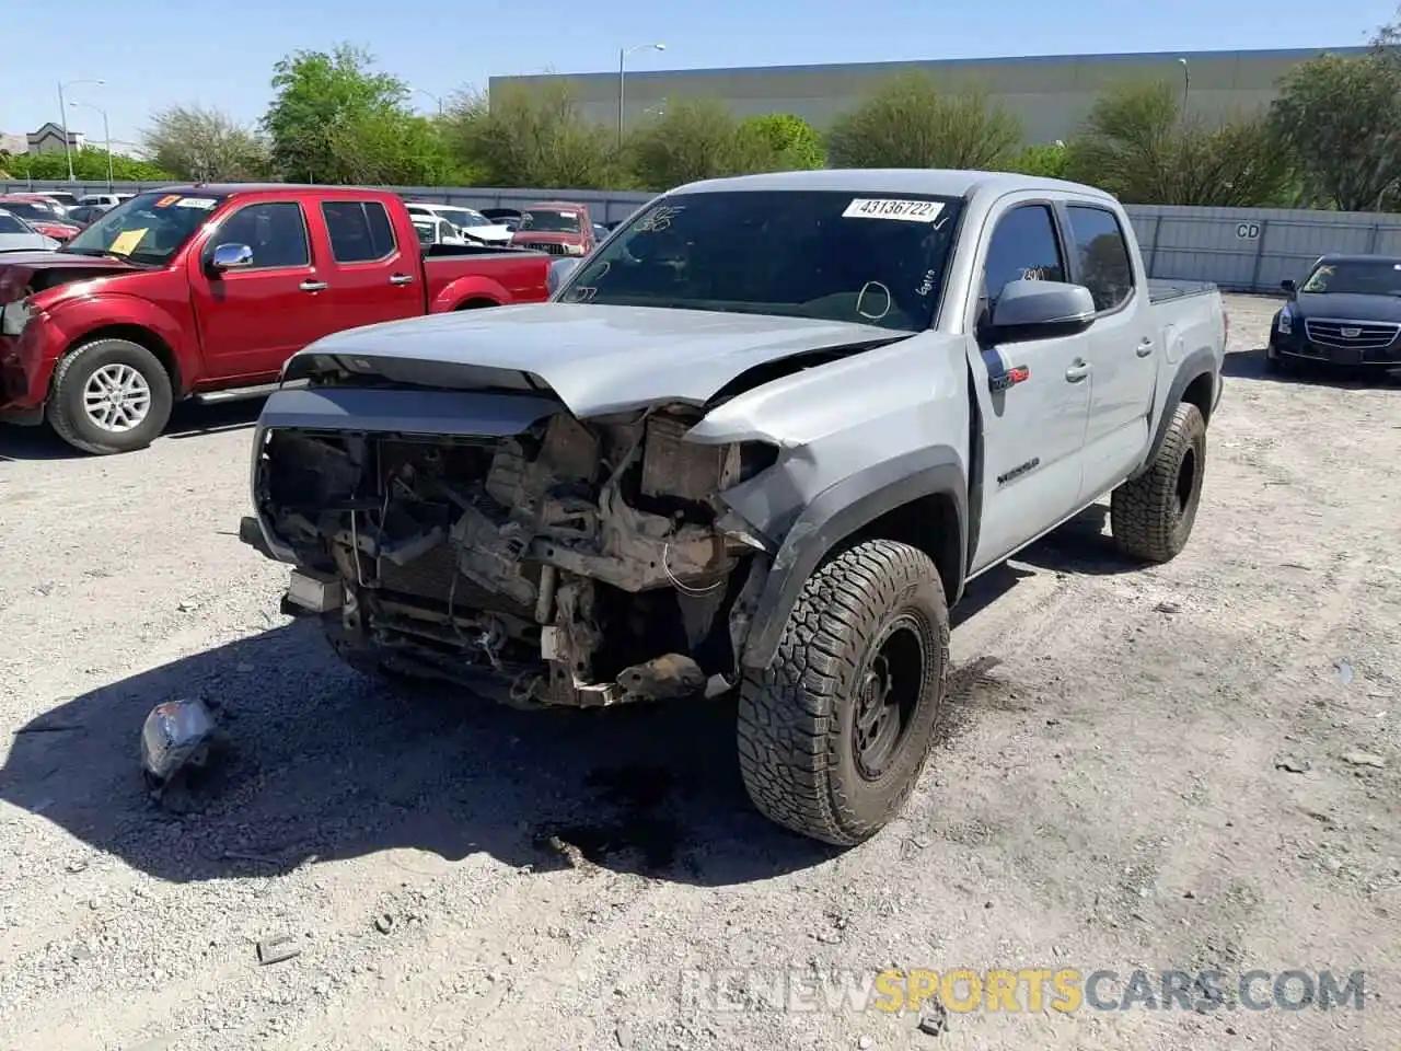
[[[98,369],[108,364],[130,366],[142,374],[151,391],[146,418],[130,430],[104,430],[83,408],[84,387]],[[129,339],[94,339],[59,360],[45,415],[55,433],[74,448],[112,455],[133,453],[151,444],[165,430],[174,404],[171,378],[156,355]]]

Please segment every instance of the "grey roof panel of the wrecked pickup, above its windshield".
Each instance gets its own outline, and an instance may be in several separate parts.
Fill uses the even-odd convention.
[[[773,171],[738,175],[729,179],[705,179],[677,186],[674,193],[712,193],[719,191],[849,191],[852,193],[930,193],[941,198],[971,198],[979,192],[1009,193],[1019,189],[1073,191],[1110,199],[1094,186],[1037,175],[1005,171],[953,171],[944,168],[825,168],[818,171]]]

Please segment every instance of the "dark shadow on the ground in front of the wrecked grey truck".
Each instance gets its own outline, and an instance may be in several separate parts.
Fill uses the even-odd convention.
[[[985,575],[961,618],[1017,579]],[[157,804],[139,734],[153,705],[179,696],[214,709],[226,744]],[[177,883],[395,848],[698,886],[832,859],[750,804],[734,706],[517,712],[433,687],[388,692],[294,621],[62,701],[14,731],[0,799]]]

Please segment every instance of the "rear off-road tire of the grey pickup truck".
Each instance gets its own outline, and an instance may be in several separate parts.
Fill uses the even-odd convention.
[[[1206,420],[1181,402],[1149,471],[1110,497],[1110,530],[1119,549],[1143,562],[1168,562],[1187,547],[1202,502]]]

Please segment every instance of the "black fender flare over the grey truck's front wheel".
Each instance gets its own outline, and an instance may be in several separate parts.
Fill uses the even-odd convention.
[[[962,458],[948,446],[930,446],[883,460],[824,489],[803,509],[769,566],[740,663],[764,668],[778,652],[799,593],[843,540],[923,496],[947,496],[958,516],[957,580],[962,591],[968,563],[968,485]]]

